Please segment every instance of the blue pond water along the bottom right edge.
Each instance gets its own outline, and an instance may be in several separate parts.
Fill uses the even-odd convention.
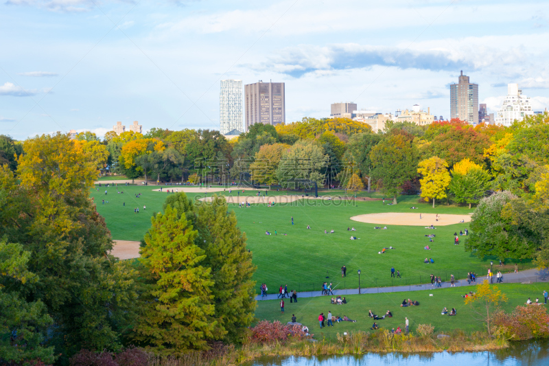
[[[362,356],[262,357],[246,366],[549,366],[549,342],[514,343],[496,352],[364,354]]]

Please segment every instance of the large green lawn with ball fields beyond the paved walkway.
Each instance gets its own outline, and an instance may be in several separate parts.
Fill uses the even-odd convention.
[[[175,187],[175,186],[172,186]],[[163,186],[164,190],[166,188]],[[104,216],[113,239],[141,240],[150,227],[152,212],[161,211],[166,193],[152,192],[155,185],[115,187],[95,187],[91,196],[97,203],[97,211]],[[98,189],[98,190],[97,190]],[[108,195],[104,196],[105,190]],[[141,193],[140,198],[135,194]],[[229,190],[220,192],[229,195]],[[262,191],[261,193],[264,193]],[[337,193],[331,191],[329,193]],[[242,194],[242,190],[240,191]],[[253,196],[257,191],[245,191],[243,195]],[[269,196],[285,192],[268,192]],[[323,193],[325,194],[325,193]],[[233,190],[232,196],[236,195]],[[190,198],[203,194],[188,194]],[[108,203],[102,204],[102,200]],[[123,203],[126,203],[126,206]],[[419,206],[414,214],[467,214],[468,207],[448,207],[439,205],[434,209],[429,203],[419,203],[417,196],[402,196],[398,205],[383,205],[381,201],[358,201],[353,204],[346,201],[298,201],[292,204],[252,205],[250,209],[239,209],[231,205],[237,215],[240,229],[246,233],[248,248],[253,251],[253,262],[257,266],[255,280],[257,289],[266,282],[270,293],[279,285],[288,284],[288,288],[320,290],[324,281],[334,283],[335,288],[358,288],[357,270],[362,271],[362,287],[398,286],[428,282],[430,273],[449,279],[465,277],[467,271],[479,275],[485,274],[490,260],[478,258],[466,253],[462,245],[453,244],[454,231],[460,231],[467,224],[456,224],[428,230],[423,227],[388,225],[387,230],[375,230],[373,224],[350,220],[351,216],[377,212],[410,212],[412,205]],[[147,208],[143,210],[143,205]],[[134,213],[139,207],[139,214]],[[291,216],[294,217],[292,225]],[[430,225],[436,222],[425,222]],[[307,230],[307,225],[311,229]],[[355,227],[353,236],[360,240],[349,240],[351,234],[347,227]],[[333,234],[324,230],[334,229]],[[265,231],[277,231],[277,236],[266,236]],[[282,235],[287,234],[286,236]],[[434,242],[425,238],[426,233],[436,233]],[[465,238],[465,237],[463,237]],[[423,250],[426,244],[431,251]],[[379,255],[383,247],[395,247]],[[425,257],[434,258],[434,264],[423,264]],[[347,266],[347,277],[340,275],[341,266]],[[391,280],[390,268],[401,272],[401,279]],[[512,266],[509,266],[512,271]],[[325,279],[326,276],[329,279]]]

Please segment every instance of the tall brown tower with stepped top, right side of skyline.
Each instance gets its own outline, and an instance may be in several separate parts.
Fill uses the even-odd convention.
[[[478,124],[478,84],[469,82],[463,71],[458,84],[450,84],[450,118]]]

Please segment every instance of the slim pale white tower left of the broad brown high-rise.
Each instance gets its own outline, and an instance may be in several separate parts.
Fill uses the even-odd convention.
[[[221,135],[233,130],[244,132],[242,124],[242,80],[221,80],[219,93],[219,122]]]

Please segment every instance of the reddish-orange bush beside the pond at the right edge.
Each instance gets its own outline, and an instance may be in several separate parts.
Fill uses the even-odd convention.
[[[515,341],[549,337],[548,323],[547,309],[537,305],[517,306],[511,314],[498,313],[494,320],[495,328]]]

